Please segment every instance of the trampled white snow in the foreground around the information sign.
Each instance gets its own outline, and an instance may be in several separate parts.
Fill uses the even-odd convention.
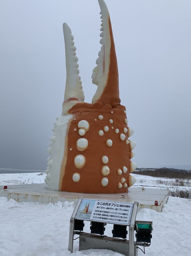
[[[17,203],[0,198],[0,255],[1,256],[67,256],[69,220],[74,203],[56,204]],[[146,255],[190,255],[191,200],[169,197],[162,213],[142,209],[138,220],[153,221],[153,239]],[[111,236],[113,225],[107,224],[105,235]],[[90,222],[84,231],[90,232]],[[77,235],[75,237],[78,237]],[[79,240],[74,241],[74,253],[79,255],[120,256],[109,250],[78,251]],[[143,255],[139,250],[138,255]]]

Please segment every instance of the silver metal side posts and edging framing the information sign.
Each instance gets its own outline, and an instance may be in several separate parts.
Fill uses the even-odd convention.
[[[69,242],[68,242],[68,250],[70,252],[73,252],[74,221],[76,219],[78,209],[81,206],[82,199],[83,199],[82,197],[78,198],[78,201],[76,203],[76,206],[74,208],[74,211],[70,219]],[[135,220],[136,220],[137,211],[138,211],[138,205],[139,205],[138,202],[134,202],[133,210],[131,211],[130,223],[129,225],[126,225],[126,226],[129,226],[129,256],[134,256],[134,227],[135,227]],[[98,221],[98,222],[101,222],[101,221]],[[102,222],[109,223],[107,221],[102,221]],[[115,224],[115,223],[111,223],[111,224]]]

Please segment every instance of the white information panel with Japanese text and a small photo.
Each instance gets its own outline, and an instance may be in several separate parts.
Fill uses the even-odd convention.
[[[83,199],[76,219],[129,225],[133,203]]]

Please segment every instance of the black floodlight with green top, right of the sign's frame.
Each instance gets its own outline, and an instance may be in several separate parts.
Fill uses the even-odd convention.
[[[136,242],[150,243],[153,221],[135,221]]]

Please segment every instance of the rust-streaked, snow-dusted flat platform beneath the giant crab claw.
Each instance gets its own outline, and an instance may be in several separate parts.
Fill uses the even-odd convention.
[[[17,202],[57,203],[58,201],[74,201],[76,203],[78,198],[82,196],[83,198],[94,200],[116,202],[134,203],[138,201],[139,209],[150,208],[157,212],[162,211],[162,207],[167,202],[169,195],[169,190],[162,189],[142,190],[141,188],[129,188],[129,192],[124,194],[125,198],[122,198],[122,194],[86,194],[47,190],[45,183],[12,185],[8,186],[8,189],[3,189],[3,186],[0,186],[0,196],[8,199],[12,198]],[[155,205],[155,201],[158,201],[158,206]]]

